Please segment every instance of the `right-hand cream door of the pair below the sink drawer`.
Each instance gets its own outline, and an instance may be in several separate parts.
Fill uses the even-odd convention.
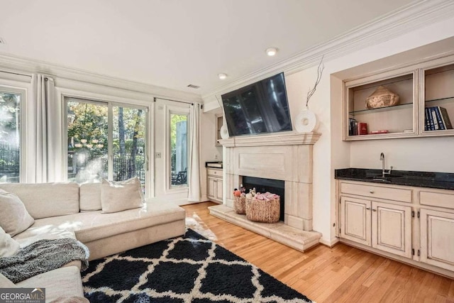
[[[411,207],[372,202],[372,247],[411,258]]]

